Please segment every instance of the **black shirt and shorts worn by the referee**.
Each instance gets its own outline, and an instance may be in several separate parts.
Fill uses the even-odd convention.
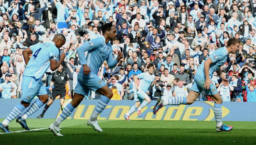
[[[56,96],[60,95],[60,99],[64,99],[66,95],[66,82],[68,81],[67,71],[55,71],[52,76],[54,88],[50,99],[54,100]]]

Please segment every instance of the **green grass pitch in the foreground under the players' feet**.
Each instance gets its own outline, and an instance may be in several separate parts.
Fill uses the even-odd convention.
[[[0,122],[4,119],[0,119]],[[1,145],[256,145],[256,122],[224,121],[232,125],[230,132],[216,132],[215,121],[126,121],[99,120],[102,133],[87,126],[87,120],[66,119],[60,125],[64,137],[54,136],[48,130],[55,119],[27,119],[30,129],[47,128],[11,134],[0,134]],[[12,121],[10,131],[24,129]]]

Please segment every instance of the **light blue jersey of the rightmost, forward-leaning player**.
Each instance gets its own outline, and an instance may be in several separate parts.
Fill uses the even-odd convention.
[[[225,64],[227,61],[227,49],[224,47],[221,47],[214,51],[207,59],[211,59],[213,63],[210,65],[209,69],[209,75],[210,79],[213,77],[213,73],[218,70],[222,65]],[[206,60],[205,60],[206,61]],[[199,68],[197,69],[196,73],[199,77],[206,79],[205,74],[204,74],[204,62],[201,63]]]

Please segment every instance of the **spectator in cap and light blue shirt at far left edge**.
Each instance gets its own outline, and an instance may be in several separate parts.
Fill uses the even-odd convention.
[[[0,92],[2,93],[1,98],[10,99],[12,98],[11,92],[14,91],[15,84],[11,82],[11,74],[5,75],[5,81],[0,84]]]

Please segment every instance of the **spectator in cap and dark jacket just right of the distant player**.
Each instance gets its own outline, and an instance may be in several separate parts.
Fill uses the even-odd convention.
[[[157,100],[162,97],[162,89],[165,88],[165,82],[160,80],[161,75],[159,73],[155,74],[156,83],[152,87],[152,100]]]

